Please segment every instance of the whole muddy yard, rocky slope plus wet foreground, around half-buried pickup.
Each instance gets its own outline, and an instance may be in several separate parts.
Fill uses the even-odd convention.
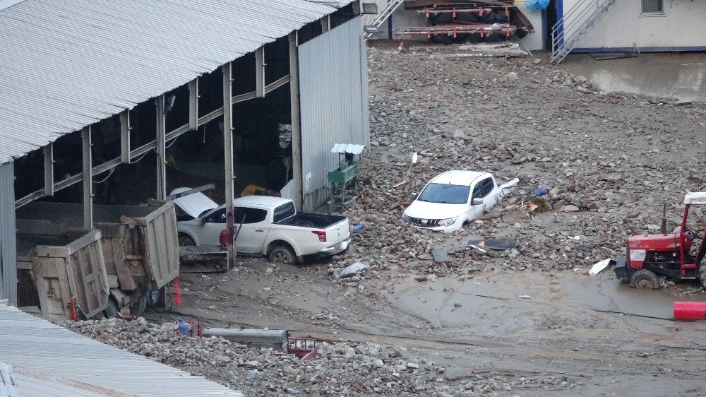
[[[669,200],[674,220],[683,194],[703,189],[706,167],[695,159],[703,158],[706,148],[705,107],[596,93],[582,79],[567,83],[563,74],[543,60],[534,64],[532,57],[443,57],[453,51],[424,46],[397,54],[392,45],[370,50],[374,145],[364,163],[370,186],[365,211],[348,213],[352,223],[366,225],[356,237],[364,249],[304,266],[246,258],[226,273],[184,273],[181,305],[145,317],[198,318],[211,326],[284,328],[326,340],[402,346],[406,355],[448,366],[443,381],[462,382],[474,374],[517,380],[512,390],[494,391],[501,396],[705,394],[706,324],[671,320],[673,302],[706,301],[702,292],[687,293],[698,284],[635,290],[619,283],[610,268],[587,275],[591,263],[624,253],[624,236],[659,224],[659,203]],[[450,73],[453,77],[444,78]],[[458,130],[468,139],[455,139]],[[412,151],[455,142],[450,148],[456,152],[479,141],[519,142],[513,148],[534,155],[498,157],[484,147],[488,153],[469,158],[477,160],[479,170],[505,179],[522,175],[525,194],[558,186],[555,204],[566,205],[562,191],[583,184],[572,193],[579,211],[539,215],[549,226],[530,218],[489,221],[452,235],[393,223],[403,206],[390,210],[391,204],[404,202],[414,186],[395,191],[388,185],[414,178],[404,172]],[[444,167],[474,167],[462,156],[428,157],[420,180],[409,185],[418,187],[426,173]],[[402,171],[390,174],[395,165]],[[602,194],[594,195],[585,185],[604,182],[604,176],[616,186],[603,184]],[[390,183],[383,186],[385,179]],[[594,199],[605,201],[602,211],[585,205]],[[376,227],[373,215],[384,222]],[[542,238],[508,256],[460,254],[456,262],[462,266],[445,267],[407,248],[385,249],[393,245],[390,240],[412,234],[433,245],[463,245],[469,234],[513,235],[518,246],[523,239]],[[568,244],[558,237],[573,235],[588,240],[593,253],[554,249],[559,242]],[[364,276],[336,280],[334,269],[354,261],[369,263]],[[483,264],[488,270],[476,271]]]

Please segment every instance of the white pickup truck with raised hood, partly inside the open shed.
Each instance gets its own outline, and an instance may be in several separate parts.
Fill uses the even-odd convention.
[[[174,189],[172,194],[189,190]],[[180,245],[217,245],[226,227],[225,204],[217,206],[203,193],[175,198],[189,215],[177,221]],[[288,198],[246,196],[233,200],[239,253],[268,256],[271,261],[294,264],[305,256],[331,256],[348,248],[348,218],[337,215],[297,213]],[[239,232],[237,230],[239,229]]]

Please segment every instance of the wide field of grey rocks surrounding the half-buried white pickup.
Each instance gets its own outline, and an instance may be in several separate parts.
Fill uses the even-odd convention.
[[[677,224],[683,195],[706,189],[697,160],[706,148],[703,105],[603,93],[538,60],[448,59],[438,54],[448,47],[439,48],[369,50],[372,148],[357,206],[347,211],[361,227],[330,266],[333,278],[357,261],[366,268],[345,278],[349,285],[393,277],[388,269],[585,271],[624,255],[628,235],[659,230],[663,202]],[[521,182],[452,235],[403,225],[409,194],[455,169]],[[483,253],[466,247],[469,237],[517,246]],[[449,238],[450,259],[434,260]]]

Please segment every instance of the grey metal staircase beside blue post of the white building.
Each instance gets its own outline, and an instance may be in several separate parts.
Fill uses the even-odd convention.
[[[571,7],[551,28],[551,57],[558,64],[578,42],[603,18],[617,0],[581,0]]]

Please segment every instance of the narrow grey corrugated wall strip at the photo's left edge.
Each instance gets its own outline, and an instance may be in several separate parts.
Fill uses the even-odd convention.
[[[17,302],[15,164],[0,165],[0,299]]]

